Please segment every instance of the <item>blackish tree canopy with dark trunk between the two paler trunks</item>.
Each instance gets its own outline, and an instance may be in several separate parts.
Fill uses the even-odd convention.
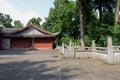
[[[93,0],[93,8],[99,11],[99,25],[102,25],[104,12],[112,12],[115,8],[115,0]]]

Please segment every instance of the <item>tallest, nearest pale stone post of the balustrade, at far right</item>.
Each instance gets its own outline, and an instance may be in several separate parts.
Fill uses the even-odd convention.
[[[112,37],[108,37],[107,62],[109,64],[114,64],[114,53],[113,53]]]

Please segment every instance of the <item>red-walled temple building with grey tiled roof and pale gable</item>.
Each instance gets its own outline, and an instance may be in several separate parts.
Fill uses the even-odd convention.
[[[1,31],[1,49],[53,49],[58,33],[51,33],[33,24],[23,28],[4,28]]]

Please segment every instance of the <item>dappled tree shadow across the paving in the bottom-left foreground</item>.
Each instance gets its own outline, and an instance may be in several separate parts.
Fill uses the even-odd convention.
[[[70,80],[75,76],[65,75],[71,69],[58,70],[60,65],[50,65],[55,62],[58,60],[0,63],[0,80]]]

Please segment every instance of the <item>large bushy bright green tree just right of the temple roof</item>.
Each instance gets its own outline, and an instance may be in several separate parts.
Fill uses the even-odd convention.
[[[76,24],[76,3],[68,0],[55,0],[54,7],[50,8],[49,16],[45,18],[43,28],[51,32],[59,32],[58,43],[64,42],[66,35],[78,38],[79,30]]]

